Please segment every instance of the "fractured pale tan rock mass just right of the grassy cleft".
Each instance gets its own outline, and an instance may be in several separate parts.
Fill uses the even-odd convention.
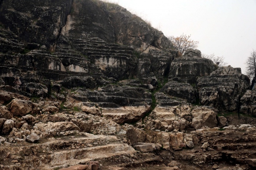
[[[192,106],[184,101],[173,100],[163,93],[155,94],[158,105],[149,115],[146,129],[165,131],[216,127],[217,113],[213,108]]]

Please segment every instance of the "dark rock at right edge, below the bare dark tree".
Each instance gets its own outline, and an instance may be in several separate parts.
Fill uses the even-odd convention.
[[[241,97],[240,102],[241,112],[256,115],[256,91],[247,90]]]

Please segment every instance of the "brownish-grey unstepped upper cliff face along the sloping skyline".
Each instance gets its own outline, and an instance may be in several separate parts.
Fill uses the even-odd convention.
[[[161,31],[152,28],[141,18],[118,5],[110,9],[110,20],[114,26],[116,42],[119,44],[132,45],[140,52],[150,48],[173,47]]]

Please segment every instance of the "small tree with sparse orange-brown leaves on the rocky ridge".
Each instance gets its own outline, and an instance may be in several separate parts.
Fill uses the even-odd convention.
[[[183,55],[188,48],[197,48],[197,44],[199,43],[198,41],[190,40],[190,36],[182,33],[179,37],[169,36],[168,39]]]

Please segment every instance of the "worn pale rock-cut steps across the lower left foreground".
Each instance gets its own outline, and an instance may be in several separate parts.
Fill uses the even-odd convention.
[[[49,142],[47,142],[49,141]],[[18,142],[1,145],[5,166],[20,163],[22,169],[60,169],[77,164],[87,164],[96,159],[119,155],[133,155],[136,151],[115,136],[93,135],[79,132],[74,136],[56,136],[43,139],[38,144]],[[2,160],[1,159],[1,160]],[[35,166],[37,165],[37,166]],[[18,165],[16,165],[18,167]]]

